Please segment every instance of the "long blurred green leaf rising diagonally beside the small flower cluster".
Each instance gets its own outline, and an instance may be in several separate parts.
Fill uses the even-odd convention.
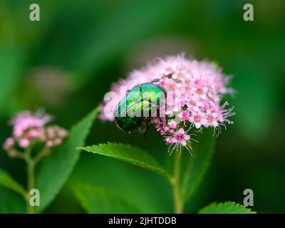
[[[73,126],[63,145],[56,148],[39,167],[36,175],[36,188],[41,193],[40,211],[51,203],[71,174],[79,158],[76,147],[84,144],[97,114],[98,108],[95,108],[86,118]]]

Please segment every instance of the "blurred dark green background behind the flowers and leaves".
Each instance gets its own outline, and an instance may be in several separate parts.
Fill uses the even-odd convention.
[[[32,3],[40,5],[41,21],[29,20]],[[243,20],[246,3],[254,5],[254,21]],[[185,51],[219,63],[237,90],[227,98],[237,113],[234,125],[219,135],[212,165],[185,212],[210,202],[242,204],[247,188],[255,211],[285,212],[284,10],[282,0],[1,0],[0,142],[11,135],[6,123],[19,110],[45,108],[69,128],[113,81],[153,57]],[[154,129],[145,140],[96,120],[87,144],[108,141],[167,155]],[[0,150],[0,166],[25,184],[24,162]],[[128,197],[142,212],[172,212],[170,186],[161,177],[84,152],[46,212],[83,212],[70,190],[78,180]],[[0,189],[0,202],[5,194]]]

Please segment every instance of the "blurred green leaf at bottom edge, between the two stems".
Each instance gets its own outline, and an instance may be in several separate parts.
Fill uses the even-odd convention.
[[[94,185],[77,182],[73,191],[86,212],[92,214],[129,214],[140,213],[139,209],[127,202],[123,197],[103,190]]]

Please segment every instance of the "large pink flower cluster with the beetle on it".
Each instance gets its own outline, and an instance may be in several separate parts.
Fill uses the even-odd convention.
[[[190,60],[184,55],[157,59],[114,83],[112,93],[116,96],[105,95],[100,118],[114,120],[113,111],[125,93],[133,86],[154,80],[165,89],[166,112],[165,117],[152,118],[152,123],[167,144],[186,147],[191,140],[190,129],[212,127],[219,133],[221,125],[232,123],[228,120],[233,115],[232,108],[227,108],[227,102],[220,104],[222,95],[232,91],[227,88],[229,76],[224,76],[213,63]]]

